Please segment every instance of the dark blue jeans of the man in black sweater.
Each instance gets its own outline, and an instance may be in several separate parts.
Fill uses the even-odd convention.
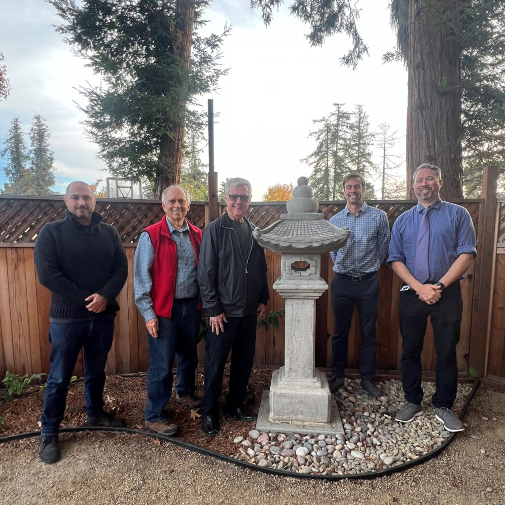
[[[113,336],[114,319],[51,323],[51,369],[44,393],[42,435],[55,435],[60,429],[68,386],[81,348],[84,351],[84,410],[92,419],[104,413],[105,365]]]

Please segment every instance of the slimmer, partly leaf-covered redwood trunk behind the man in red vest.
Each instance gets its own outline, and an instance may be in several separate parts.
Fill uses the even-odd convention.
[[[187,72],[191,60],[191,42],[193,37],[194,5],[191,0],[178,0],[176,27],[179,41],[174,44],[172,54],[182,59],[186,74],[181,78],[181,95],[188,90]],[[184,144],[184,110],[186,104],[179,104],[180,120],[172,125],[172,135],[165,133],[160,142],[160,156],[153,188],[153,198],[161,199],[164,189],[171,184],[178,184],[181,175],[182,147]]]

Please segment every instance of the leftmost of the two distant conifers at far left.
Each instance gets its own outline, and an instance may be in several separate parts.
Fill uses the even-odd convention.
[[[8,160],[4,167],[5,175],[9,182],[5,183],[3,193],[26,194],[29,172],[27,163],[27,147],[23,139],[23,132],[19,118],[11,121],[9,135],[5,140],[2,158]]]

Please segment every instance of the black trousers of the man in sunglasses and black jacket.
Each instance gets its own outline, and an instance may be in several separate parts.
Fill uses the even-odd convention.
[[[218,399],[223,388],[223,373],[231,350],[230,388],[226,403],[242,407],[247,383],[254,363],[257,315],[228,318],[224,332],[207,332],[205,343],[205,389],[200,414],[217,414]]]

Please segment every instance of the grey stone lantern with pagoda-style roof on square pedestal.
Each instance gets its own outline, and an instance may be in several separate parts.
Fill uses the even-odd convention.
[[[298,179],[287,214],[253,235],[267,249],[281,252],[281,276],[273,288],[285,299],[284,366],[264,391],[257,429],[283,433],[343,433],[328,379],[315,367],[316,300],[327,289],[321,279],[321,252],[342,247],[347,228],[318,213],[307,177]]]

